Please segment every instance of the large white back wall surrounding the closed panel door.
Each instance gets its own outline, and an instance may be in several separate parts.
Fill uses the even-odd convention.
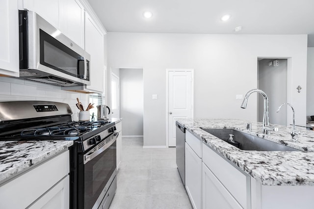
[[[307,35],[108,34],[108,67],[143,68],[144,146],[166,145],[166,69],[194,69],[194,117],[257,120],[257,99],[241,109],[236,94],[257,88],[257,57],[288,61],[288,102],[305,124]],[[292,79],[293,78],[293,79]],[[296,94],[296,86],[302,92]],[[158,100],[152,100],[152,94]],[[296,104],[298,103],[298,104]],[[243,127],[245,125],[243,124]]]

